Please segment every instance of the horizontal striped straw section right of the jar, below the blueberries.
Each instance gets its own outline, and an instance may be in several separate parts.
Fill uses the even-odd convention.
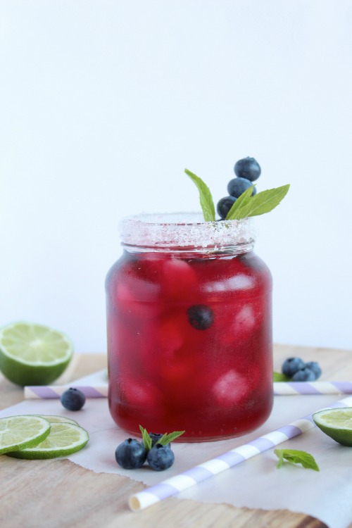
[[[352,394],[352,382],[274,382],[274,394]]]

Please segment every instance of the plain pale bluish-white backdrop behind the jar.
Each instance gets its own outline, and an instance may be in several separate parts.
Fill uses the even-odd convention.
[[[1,0],[0,324],[106,350],[104,279],[130,213],[258,191],[276,342],[352,348],[350,0]]]

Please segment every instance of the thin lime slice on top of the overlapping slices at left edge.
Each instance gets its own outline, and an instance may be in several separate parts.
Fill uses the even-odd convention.
[[[51,425],[39,416],[0,418],[0,455],[16,449],[32,448],[46,439]]]

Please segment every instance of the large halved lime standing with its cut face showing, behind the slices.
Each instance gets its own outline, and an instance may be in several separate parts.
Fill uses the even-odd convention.
[[[18,385],[47,385],[68,366],[73,344],[62,332],[30,322],[0,329],[0,370]]]

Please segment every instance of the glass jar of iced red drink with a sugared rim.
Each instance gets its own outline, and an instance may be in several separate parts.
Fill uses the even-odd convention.
[[[106,277],[108,403],[133,435],[185,430],[213,441],[272,410],[272,279],[251,219],[200,214],[122,220]]]

